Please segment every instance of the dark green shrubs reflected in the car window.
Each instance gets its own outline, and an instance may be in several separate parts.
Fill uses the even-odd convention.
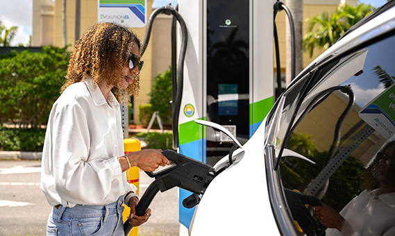
[[[323,169],[327,152],[317,151],[314,143],[310,135],[292,134],[287,143],[287,149],[304,155],[316,164],[312,165],[310,162],[299,158],[287,158],[285,165],[280,165],[281,178],[285,187],[303,191],[310,180],[315,178]],[[326,196],[323,196],[322,201],[338,212],[342,210],[348,201],[360,193],[360,176],[362,176],[363,171],[364,167],[360,160],[352,156],[348,157],[330,177],[328,191]],[[342,192],[342,194],[339,194],[339,192]]]

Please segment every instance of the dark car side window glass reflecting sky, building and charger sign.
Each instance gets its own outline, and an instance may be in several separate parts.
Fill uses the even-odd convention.
[[[395,37],[389,37],[355,52],[353,55],[345,56],[338,60],[336,65],[323,68],[322,71],[325,73],[318,73],[321,77],[317,78],[317,81],[320,82],[303,101],[301,110],[298,111],[299,116],[303,109],[308,107],[308,103],[314,96],[332,86],[350,86],[355,96],[355,103],[342,122],[339,145],[332,156],[328,155],[328,152],[336,134],[337,121],[348,103],[347,94],[337,90],[329,96],[325,96],[323,101],[317,103],[314,109],[303,117],[299,124],[296,124],[285,147],[313,160],[316,165],[298,158],[284,158],[280,163],[283,187],[317,196],[336,212],[340,212],[350,201],[355,201],[355,196],[367,199],[367,203],[360,205],[360,210],[371,204],[370,201],[373,200],[369,200],[371,197],[369,194],[373,194],[373,189],[366,190],[366,181],[364,182],[362,179],[367,176],[367,169],[372,169],[372,165],[376,165],[374,167],[376,168],[376,179],[377,174],[383,174],[380,172],[383,171],[383,169],[380,170],[380,163],[384,165],[387,163],[385,161],[389,160],[387,166],[395,168],[393,167],[395,160],[392,161],[395,155],[395,144],[394,150],[385,147],[394,139],[395,134],[394,44]],[[295,109],[296,94],[300,91],[301,86],[302,83],[295,85],[288,91],[280,130],[277,134],[276,148],[283,144],[282,141],[291,121],[289,114]],[[389,150],[387,154],[383,154],[385,150]],[[381,154],[377,154],[380,152]],[[378,155],[377,158],[376,155]],[[327,163],[329,165],[326,165]],[[390,165],[390,163],[392,164]],[[395,169],[393,172],[395,173]],[[329,180],[326,181],[328,178]],[[386,181],[389,183],[388,185],[395,186],[394,178]],[[363,182],[364,185],[362,185]],[[315,185],[319,186],[318,189],[314,189]],[[382,185],[383,183],[380,183],[376,187]],[[392,192],[392,190],[394,191]],[[387,198],[384,205],[395,203],[395,189],[392,190],[389,191],[389,195],[381,195]],[[376,195],[373,198],[376,197],[380,200],[377,192],[381,190],[374,191],[376,191],[374,192]],[[348,205],[348,208],[351,207]],[[383,209],[387,208],[383,206]],[[371,219],[369,216],[360,217],[359,214],[353,215],[352,217],[355,219],[349,220],[350,227],[362,232],[362,235],[367,232],[366,230],[373,232],[373,235],[391,232],[380,231],[382,230],[380,227],[387,227],[386,230],[395,230],[395,212],[393,210],[375,212],[373,209],[373,213],[378,215],[377,219]],[[346,218],[347,213],[343,212],[342,214]],[[317,213],[317,215],[319,214]],[[387,222],[390,226],[378,222],[378,219],[383,219],[383,217],[388,218]],[[319,218],[316,220],[319,221]],[[357,225],[354,221],[358,221],[360,224]],[[326,228],[318,229],[316,234],[325,235],[325,230]],[[336,233],[336,230],[328,230],[327,233]]]

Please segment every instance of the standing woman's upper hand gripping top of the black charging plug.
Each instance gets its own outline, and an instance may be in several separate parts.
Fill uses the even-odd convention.
[[[159,166],[169,165],[169,160],[162,155],[161,149],[144,149],[128,153],[128,159],[132,166],[139,167],[143,171],[154,171]]]

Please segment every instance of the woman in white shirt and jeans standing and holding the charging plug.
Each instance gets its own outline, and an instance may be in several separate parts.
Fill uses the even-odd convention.
[[[151,214],[134,215],[136,188],[124,171],[153,171],[169,160],[161,150],[124,155],[119,108],[137,94],[139,50],[136,35],[112,23],[96,24],[76,41],[42,152],[41,189],[53,205],[47,235],[124,235],[124,201],[132,226]]]

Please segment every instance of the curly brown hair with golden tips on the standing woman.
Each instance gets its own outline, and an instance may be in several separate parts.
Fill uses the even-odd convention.
[[[128,28],[114,23],[94,24],[76,41],[65,76],[67,81],[60,92],[87,77],[92,77],[97,84],[103,80],[109,85],[114,83],[117,72],[122,71],[128,60],[128,53],[135,46],[140,51],[140,40]],[[140,78],[136,75],[133,84],[126,90],[119,90],[117,87],[112,89],[119,103],[127,103],[132,94],[138,95],[139,82]]]

